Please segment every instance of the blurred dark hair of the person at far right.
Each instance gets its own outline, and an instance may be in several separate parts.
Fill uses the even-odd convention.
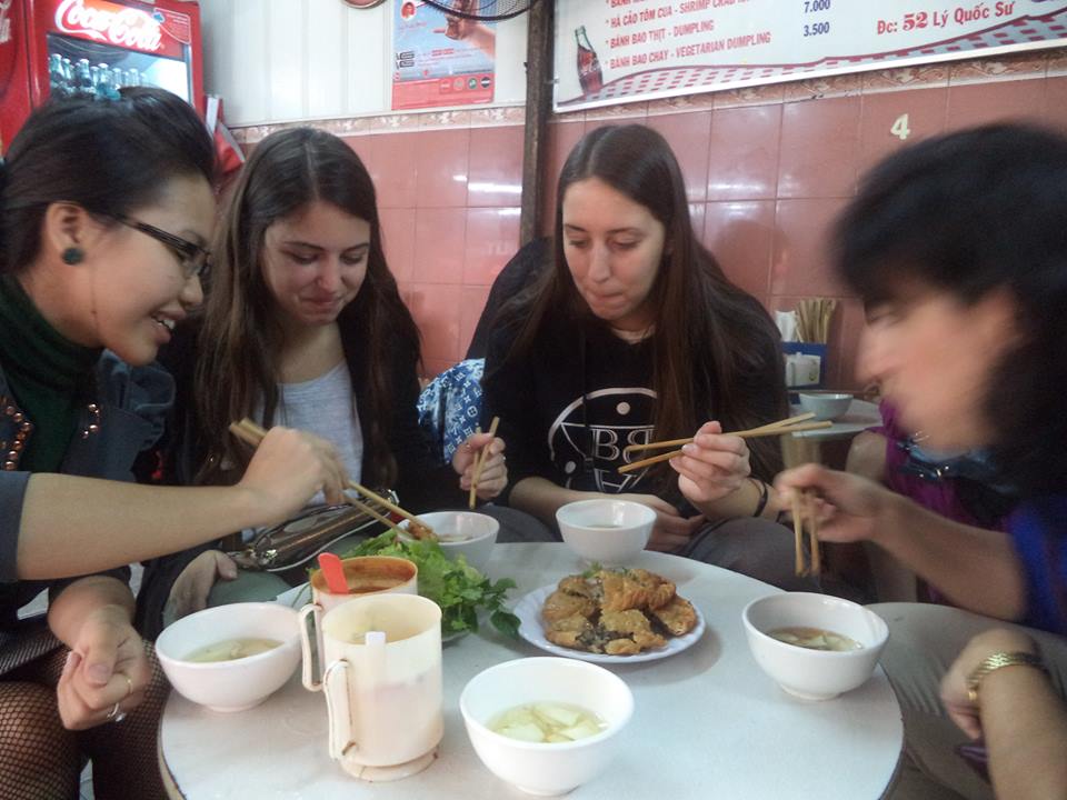
[[[1021,341],[980,398],[994,458],[1025,494],[1067,487],[1067,139],[996,124],[882,161],[836,228],[837,270],[868,304],[908,278],[964,303],[1006,289]]]

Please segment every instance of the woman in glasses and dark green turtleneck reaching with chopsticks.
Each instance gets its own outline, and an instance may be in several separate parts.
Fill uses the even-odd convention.
[[[97,798],[166,797],[166,682],[122,566],[339,497],[332,448],[286,430],[235,487],[129,482],[173,394],[157,349],[202,299],[213,168],[196,112],[156,89],[46,104],[0,167],[2,798],[77,794],[86,757]],[[47,622],[20,620],[46,589]]]

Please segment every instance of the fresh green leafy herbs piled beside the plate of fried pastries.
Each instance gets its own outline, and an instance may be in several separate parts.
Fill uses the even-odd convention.
[[[396,556],[413,561],[419,568],[419,594],[441,607],[442,636],[477,631],[478,609],[485,609],[493,628],[518,638],[519,618],[503,604],[508,589],[515,588],[510,578],[490,581],[462,556],[449,560],[437,542],[403,541],[391,530],[360,542],[342,558],[357,556]]]

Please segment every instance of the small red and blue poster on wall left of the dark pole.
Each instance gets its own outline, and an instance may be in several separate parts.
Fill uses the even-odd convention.
[[[462,9],[467,0],[452,0]],[[416,0],[392,13],[392,106],[447,108],[492,102],[496,29]]]

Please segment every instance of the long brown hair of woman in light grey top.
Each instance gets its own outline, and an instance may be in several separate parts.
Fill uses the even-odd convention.
[[[391,419],[387,350],[399,348],[418,359],[419,333],[400,299],[381,247],[375,186],[356,152],[337,137],[313,128],[295,128],[267,137],[237,181],[220,226],[212,282],[198,340],[196,410],[208,459],[198,479],[228,482],[222,466],[242,470],[247,454],[232,443],[227,427],[253,414],[269,427],[278,408],[278,356],[282,328],[263,279],[263,237],[277,220],[316,200],[332,203],[370,224],[367,277],[338,317],[342,340],[362,342],[368,387],[360,420],[368,431],[368,480],[389,486],[397,474],[386,431]],[[349,363],[352,363],[349,359]],[[239,473],[239,472],[238,472]]]

